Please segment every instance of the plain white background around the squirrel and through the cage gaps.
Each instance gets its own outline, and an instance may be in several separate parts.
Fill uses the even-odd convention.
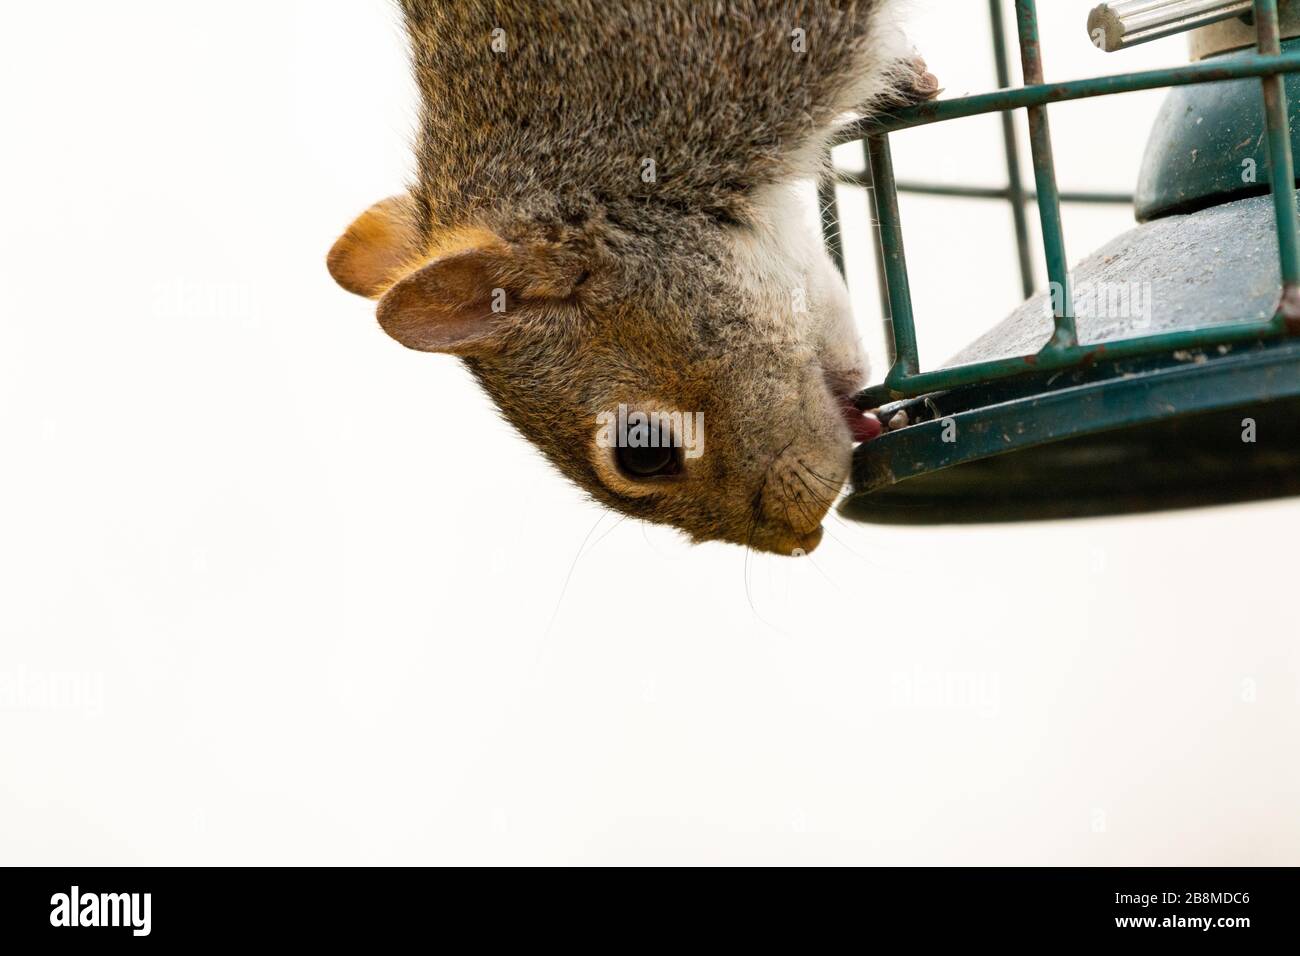
[[[1050,78],[1183,61],[1089,5]],[[913,8],[991,88],[985,5]],[[1062,187],[1131,189],[1160,98],[1053,108]],[[384,0],[10,4],[0,100],[0,862],[1300,862],[1300,505],[690,548],[325,273],[408,172]],[[904,216],[935,363],[1018,303],[1009,217]]]

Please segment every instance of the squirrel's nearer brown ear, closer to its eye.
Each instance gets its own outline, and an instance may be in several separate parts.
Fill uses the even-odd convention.
[[[520,306],[572,300],[586,277],[582,259],[554,243],[507,243],[486,230],[465,230],[456,239],[380,299],[380,325],[408,349],[493,351]]]

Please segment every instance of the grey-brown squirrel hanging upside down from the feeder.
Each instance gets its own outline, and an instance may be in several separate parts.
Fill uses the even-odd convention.
[[[399,1],[416,174],[330,274],[597,501],[810,553],[880,425],[798,185],[836,124],[936,92],[897,1]]]

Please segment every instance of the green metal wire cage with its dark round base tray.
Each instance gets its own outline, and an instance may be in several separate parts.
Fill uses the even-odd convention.
[[[888,375],[881,385],[864,392],[858,405],[919,412],[913,416],[915,425],[859,447],[844,512],[884,522],[1005,520],[1300,493],[1300,481],[1294,477],[1300,472],[1300,453],[1279,458],[1274,446],[1271,457],[1245,460],[1239,437],[1236,446],[1226,442],[1228,431],[1236,428],[1232,423],[1240,420],[1239,410],[1251,407],[1286,431],[1288,447],[1300,447],[1300,433],[1290,425],[1300,419],[1300,405],[1278,405],[1300,402],[1300,339],[1290,338],[1300,332],[1300,216],[1284,83],[1286,74],[1300,72],[1300,49],[1283,52],[1278,0],[1253,0],[1256,51],[1251,55],[1065,83],[1044,82],[1035,0],[1015,0],[1024,86],[1014,88],[1009,88],[998,0],[989,0],[989,17],[1001,88],[872,117],[838,140],[863,146],[867,173],[836,176],[838,183],[868,190],[879,226],[875,268],[881,280],[889,347]],[[1058,190],[1048,107],[1110,94],[1245,79],[1257,79],[1262,91],[1268,190],[1280,269],[1275,306],[1252,321],[1226,316],[1231,321],[1080,342],[1061,204],[1131,203],[1132,196]],[[1019,109],[1028,117],[1032,190],[1022,181],[1019,166],[1014,120]],[[1004,189],[896,178],[890,134],[987,113],[1000,113],[1002,120],[1008,173]],[[836,185],[827,179],[819,194],[824,238],[844,271],[844,250],[835,228]],[[1053,293],[1053,328],[1040,347],[933,369],[920,367],[898,207],[901,191],[1008,202],[1026,299],[1035,291],[1027,208],[1037,207]],[[1192,354],[1196,360],[1187,362]],[[1204,418],[1191,424],[1180,420],[1216,414],[1218,424]],[[944,428],[952,431],[954,425],[962,428],[959,442],[941,436]],[[1205,434],[1225,441],[1212,447],[1213,442],[1201,440]],[[1020,454],[1009,457],[1010,451]],[[1160,466],[1152,467],[1153,462]],[[967,467],[958,473],[954,466]],[[1170,484],[1178,480],[1182,486],[1171,492]],[[1045,483],[1050,488],[1044,489]]]

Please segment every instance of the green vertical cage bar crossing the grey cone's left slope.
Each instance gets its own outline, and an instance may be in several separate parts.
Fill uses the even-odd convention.
[[[1035,0],[1015,0],[1015,21],[1020,33],[1020,62],[1024,82],[1043,83],[1043,47],[1039,43],[1039,12]],[[1061,228],[1061,194],[1056,185],[1056,161],[1052,157],[1052,129],[1048,108],[1039,104],[1028,108],[1030,153],[1034,157],[1034,178],[1039,186],[1039,221],[1043,224],[1043,251],[1048,261],[1048,280],[1052,284],[1052,316],[1056,332],[1050,349],[1069,349],[1079,343],[1074,325],[1074,297],[1070,291],[1070,259],[1065,250],[1065,232]]]

